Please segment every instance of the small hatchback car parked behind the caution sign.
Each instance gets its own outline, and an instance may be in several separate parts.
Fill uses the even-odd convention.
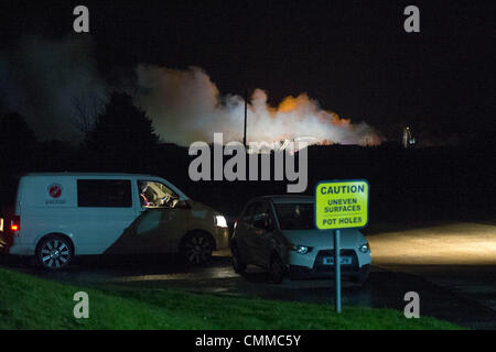
[[[357,229],[342,230],[341,265],[344,276],[367,280],[370,249]],[[235,223],[230,239],[233,267],[267,268],[273,283],[334,274],[331,231],[314,226],[314,199],[308,196],[265,196],[250,200]]]

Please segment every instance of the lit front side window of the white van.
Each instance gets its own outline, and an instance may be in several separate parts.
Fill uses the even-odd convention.
[[[139,180],[142,208],[174,208],[179,196],[164,184],[152,180]]]

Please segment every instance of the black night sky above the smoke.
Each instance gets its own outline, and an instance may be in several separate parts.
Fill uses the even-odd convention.
[[[26,35],[74,35],[79,3],[108,81],[140,63],[194,65],[222,94],[262,88],[277,105],[306,92],[389,140],[405,125],[443,141],[495,131],[494,1],[3,0],[0,52]],[[420,8],[420,33],[403,31],[408,4]]]

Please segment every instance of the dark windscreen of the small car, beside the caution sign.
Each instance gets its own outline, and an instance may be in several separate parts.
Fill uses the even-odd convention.
[[[314,229],[313,204],[276,204],[281,230]]]

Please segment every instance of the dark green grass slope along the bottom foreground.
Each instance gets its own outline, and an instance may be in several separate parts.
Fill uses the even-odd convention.
[[[89,296],[89,318],[73,316],[74,294]],[[461,329],[392,309],[193,294],[176,289],[78,287],[0,267],[0,329]]]

